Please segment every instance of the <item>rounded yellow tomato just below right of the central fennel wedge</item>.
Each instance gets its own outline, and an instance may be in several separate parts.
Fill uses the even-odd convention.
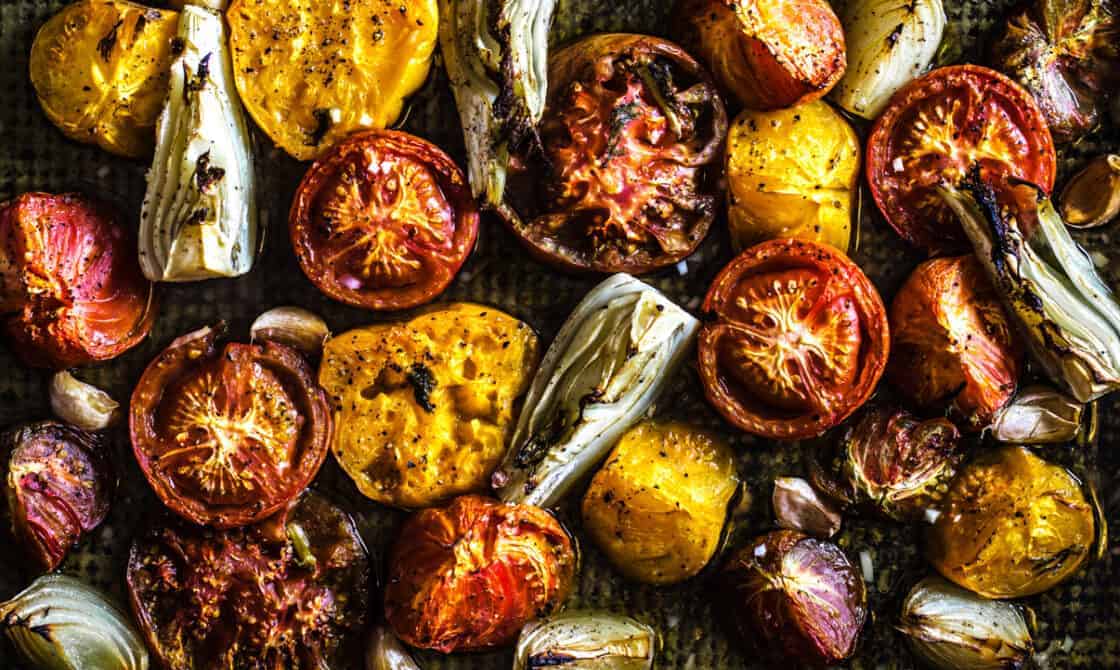
[[[674,584],[719,548],[739,491],[735,455],[716,436],[646,421],[618,440],[584,496],[584,528],[620,573]]]

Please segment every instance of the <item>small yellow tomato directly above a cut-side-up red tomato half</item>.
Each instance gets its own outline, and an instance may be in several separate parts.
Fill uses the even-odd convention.
[[[744,111],[727,140],[731,242],[800,238],[848,251],[859,153],[856,131],[822,101]]]

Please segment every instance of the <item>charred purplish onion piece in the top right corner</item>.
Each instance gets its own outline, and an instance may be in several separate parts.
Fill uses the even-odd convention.
[[[1055,141],[1076,140],[1120,83],[1120,2],[1035,0],[1007,18],[991,58],[1038,101]]]

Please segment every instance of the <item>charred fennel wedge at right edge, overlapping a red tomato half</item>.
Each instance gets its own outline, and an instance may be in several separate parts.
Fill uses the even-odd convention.
[[[980,177],[939,190],[1046,374],[1081,402],[1120,388],[1120,305],[1049,198],[1019,184],[1005,206]]]

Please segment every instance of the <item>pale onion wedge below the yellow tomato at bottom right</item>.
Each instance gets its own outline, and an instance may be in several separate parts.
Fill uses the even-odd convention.
[[[926,577],[903,603],[899,632],[914,653],[940,670],[1021,668],[1034,653],[1023,613],[941,577]]]

